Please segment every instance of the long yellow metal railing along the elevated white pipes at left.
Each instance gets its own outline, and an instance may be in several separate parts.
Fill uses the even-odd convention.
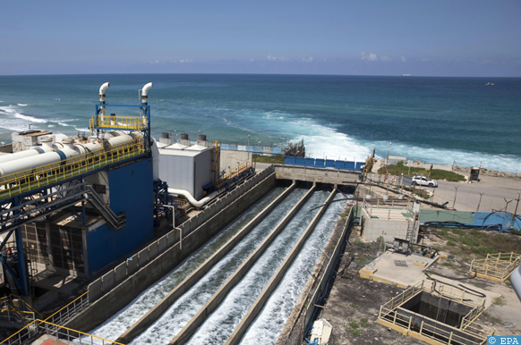
[[[13,197],[31,189],[39,189],[74,176],[98,169],[107,164],[122,161],[148,152],[149,147],[142,139],[113,147],[103,148],[61,162],[41,165],[24,172],[12,173],[0,178],[0,200]]]

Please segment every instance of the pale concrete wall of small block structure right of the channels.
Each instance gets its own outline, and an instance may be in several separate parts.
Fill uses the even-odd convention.
[[[407,222],[391,221],[387,219],[371,218],[367,211],[362,208],[364,218],[362,235],[367,240],[377,240],[380,236],[387,242],[392,242],[395,238],[406,239]]]

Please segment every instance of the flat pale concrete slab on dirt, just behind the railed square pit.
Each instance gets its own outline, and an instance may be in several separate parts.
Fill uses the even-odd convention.
[[[423,271],[432,265],[438,257],[418,257],[415,255],[386,251],[380,257],[376,257],[371,263],[360,270],[360,277],[373,282],[383,282],[392,286],[406,289],[427,278]],[[405,262],[406,266],[398,266],[395,260]],[[425,267],[423,267],[425,265]]]

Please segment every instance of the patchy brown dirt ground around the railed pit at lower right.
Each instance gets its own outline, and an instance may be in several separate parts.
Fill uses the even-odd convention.
[[[408,345],[423,343],[376,323],[380,306],[403,290],[381,282],[371,282],[360,278],[358,271],[378,255],[379,243],[372,242],[364,246],[355,245],[355,242],[360,244],[360,240],[356,241],[361,239],[359,233],[360,229],[355,226],[349,239],[351,246],[346,246],[346,251],[339,265],[339,273],[330,290],[328,302],[320,316],[328,320],[333,326],[329,345],[382,343]],[[486,235],[489,237],[514,236],[490,232]],[[514,237],[515,240],[517,238]],[[454,240],[454,238],[452,239]],[[521,238],[518,240],[521,241]],[[476,254],[471,250],[461,250],[461,246],[458,245],[447,246],[447,241],[443,236],[436,235],[431,235],[431,239],[426,237],[423,240],[425,245],[440,248],[442,256],[440,260],[429,267],[427,272],[441,273],[458,278],[470,278],[471,276],[468,274],[470,262],[473,258],[480,257],[481,254]],[[515,245],[519,248],[517,242],[515,242]],[[453,248],[452,251],[451,248]],[[351,258],[353,258],[354,264],[346,267]],[[496,335],[521,335],[521,302],[517,299],[516,292],[509,282],[491,282],[481,278],[468,279],[463,282],[469,287],[474,285],[501,295],[479,317],[478,323],[495,328],[497,330]]]

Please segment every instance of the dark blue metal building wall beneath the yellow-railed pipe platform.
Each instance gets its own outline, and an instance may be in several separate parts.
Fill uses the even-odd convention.
[[[154,238],[154,191],[152,160],[143,159],[108,172],[110,207],[119,215],[125,211],[123,229],[104,224],[87,231],[88,274],[121,261]]]

